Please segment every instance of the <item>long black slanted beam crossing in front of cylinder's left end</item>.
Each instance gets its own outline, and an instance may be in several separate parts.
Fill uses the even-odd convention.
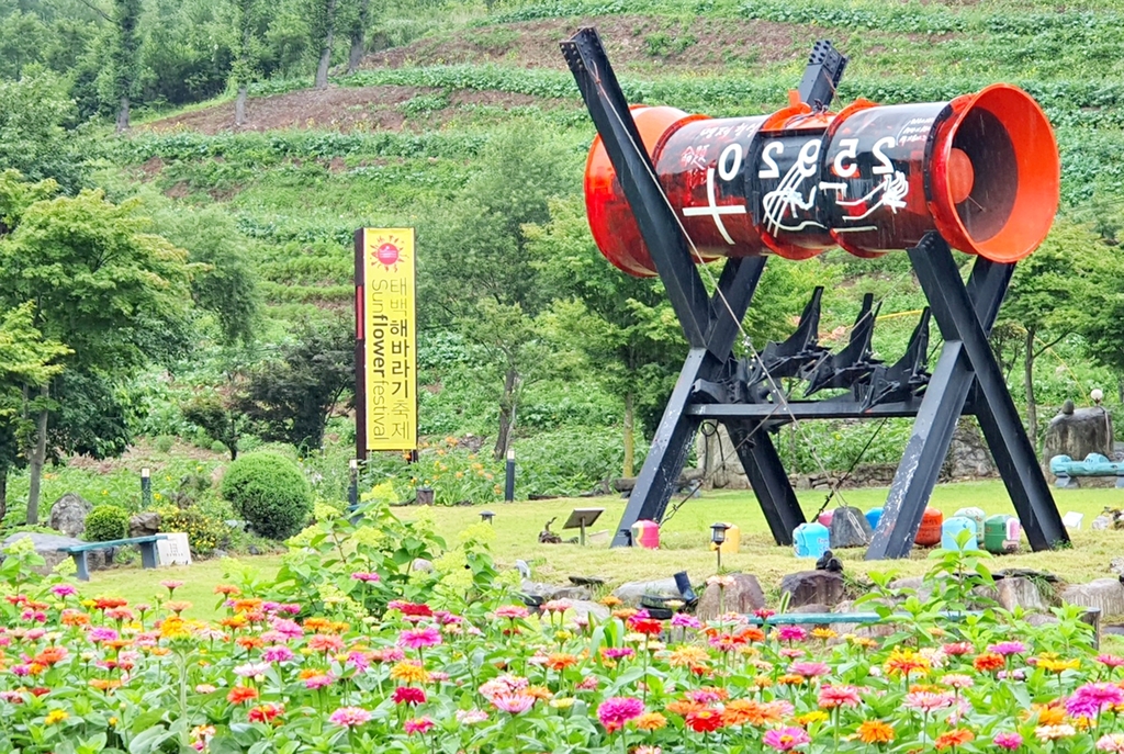
[[[641,140],[601,39],[596,29],[586,28],[561,43],[561,47],[687,343],[692,348],[707,348],[713,324],[710,297],[695,269],[679,219],[656,180],[655,167]],[[728,351],[711,353],[718,358],[728,355]]]

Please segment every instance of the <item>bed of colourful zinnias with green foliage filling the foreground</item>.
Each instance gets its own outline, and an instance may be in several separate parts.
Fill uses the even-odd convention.
[[[942,618],[987,580],[976,556],[939,553],[933,601],[897,603],[877,638],[611,598],[598,620],[513,600],[487,527],[410,575],[427,535],[387,516],[326,517],[291,580],[234,573],[210,623],[184,617],[178,582],[148,605],[88,597],[9,547],[0,751],[1124,752],[1124,657],[1098,655],[1076,610]]]

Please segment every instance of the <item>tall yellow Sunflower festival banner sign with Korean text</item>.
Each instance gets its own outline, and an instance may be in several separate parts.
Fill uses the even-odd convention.
[[[356,233],[356,439],[371,451],[417,448],[417,316],[413,228]],[[362,353],[360,353],[362,352]],[[361,388],[361,390],[360,390]]]

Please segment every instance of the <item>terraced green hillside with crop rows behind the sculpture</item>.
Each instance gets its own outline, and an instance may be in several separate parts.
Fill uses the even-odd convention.
[[[782,106],[813,42],[828,38],[851,57],[836,107],[858,97],[940,101],[996,81],[1027,89],[1061,145],[1063,218],[1093,219],[1096,233],[1113,240],[1124,225],[1122,20],[1116,2],[502,3],[490,16],[479,9],[451,15],[419,38],[368,54],[350,75],[334,69],[326,90],[307,80],[260,81],[242,128],[234,128],[233,101],[223,98],[149,118],[106,149],[120,191],[155,190],[174,206],[220,207],[236,218],[259,242],[255,266],[271,316],[283,327],[309,311],[348,310],[356,227],[419,227],[423,274],[433,274],[427,252],[455,243],[443,235],[443,218],[481,171],[492,170],[490,151],[505,135],[541,135],[562,155],[562,198],[578,201],[593,129],[558,49],[575,29],[599,29],[632,101],[715,116]],[[780,267],[773,285],[781,287],[786,319],[812,285],[839,282],[822,327],[834,337],[845,334],[861,293],[873,291],[883,301],[876,346],[887,358],[900,353],[924,303],[904,255],[861,262],[833,252],[804,267]],[[424,428],[488,435],[500,385],[480,372],[481,354],[450,329],[441,300],[447,294],[437,291],[422,305],[428,323],[420,340],[429,384]],[[778,330],[774,321],[754,337],[788,327]],[[997,348],[1017,346],[1017,323],[1012,327]],[[1062,337],[1043,351],[1034,366],[1039,401],[1058,406],[1095,385],[1115,392],[1116,375],[1082,348],[1079,338]],[[1006,357],[1018,385],[1017,347]],[[668,384],[670,378],[660,379]],[[523,431],[618,427],[620,400],[596,380],[536,379],[523,398]],[[658,411],[660,400],[651,398],[647,410]],[[871,460],[894,458],[904,431],[903,425],[887,433],[869,451]],[[845,467],[865,433],[830,428],[822,453]]]

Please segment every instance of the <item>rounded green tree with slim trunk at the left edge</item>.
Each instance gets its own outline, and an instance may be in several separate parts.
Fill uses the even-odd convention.
[[[0,175],[4,194],[19,197],[18,174]],[[24,190],[43,193],[51,183]],[[12,206],[18,209],[19,202]],[[34,302],[35,325],[67,346],[64,365],[93,380],[143,365],[166,333],[181,331],[190,307],[187,253],[147,233],[135,201],[114,205],[101,191],[38,199],[8,216],[0,238],[0,306]],[[63,403],[52,385],[39,389],[29,453],[28,521],[38,519],[39,481],[47,457],[48,420]],[[57,398],[57,397],[56,397]]]

